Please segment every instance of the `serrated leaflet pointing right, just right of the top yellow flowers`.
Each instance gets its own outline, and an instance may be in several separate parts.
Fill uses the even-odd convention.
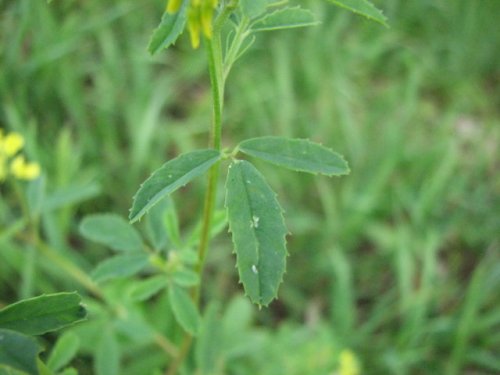
[[[281,8],[259,18],[251,27],[252,31],[271,31],[295,27],[314,26],[319,22],[314,14],[300,7]]]

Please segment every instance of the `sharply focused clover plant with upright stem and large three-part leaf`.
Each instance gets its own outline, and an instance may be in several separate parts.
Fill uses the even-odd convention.
[[[369,1],[329,1],[386,25],[382,13]],[[213,105],[208,148],[179,155],[154,171],[134,196],[129,215],[131,223],[140,220],[180,187],[198,176],[208,175],[202,227],[192,268],[196,275],[193,279],[197,280],[191,289],[192,298],[182,283],[174,281],[170,285],[172,309],[187,332],[183,350],[172,364],[171,373],[183,361],[191,336],[197,332],[199,280],[213,232],[221,171],[226,174],[224,207],[239,279],[245,294],[259,307],[277,298],[286,268],[288,230],[276,194],[252,160],[260,159],[277,167],[311,174],[349,173],[341,155],[307,139],[263,134],[237,145],[222,145],[224,92],[234,63],[261,32],[316,24],[318,21],[310,10],[289,1],[169,0],[161,23],[153,33],[148,48],[152,54],[174,44],[185,29],[193,48],[206,49]],[[163,285],[159,280],[149,280],[155,290],[158,283]]]

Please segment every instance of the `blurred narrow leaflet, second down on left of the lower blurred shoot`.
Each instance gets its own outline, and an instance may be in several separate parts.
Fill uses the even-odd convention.
[[[149,256],[146,253],[117,255],[99,263],[92,271],[92,278],[97,282],[103,282],[128,277],[142,271],[148,264]]]

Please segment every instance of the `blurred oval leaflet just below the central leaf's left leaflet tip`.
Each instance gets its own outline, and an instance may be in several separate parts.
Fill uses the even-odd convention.
[[[116,251],[134,252],[143,248],[141,236],[134,227],[114,214],[86,216],[80,224],[80,233]]]

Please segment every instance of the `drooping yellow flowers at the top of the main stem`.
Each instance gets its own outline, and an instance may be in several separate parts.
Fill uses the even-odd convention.
[[[212,22],[214,10],[219,0],[167,0],[167,12],[177,13],[183,1],[189,1],[188,30],[193,48],[200,46],[201,33],[212,37]]]

